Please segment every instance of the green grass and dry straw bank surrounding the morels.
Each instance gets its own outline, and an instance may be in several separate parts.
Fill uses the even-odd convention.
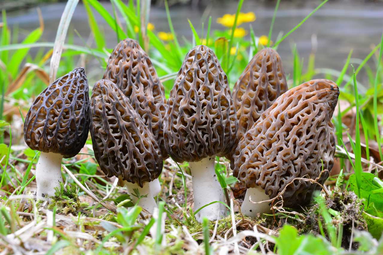
[[[275,16],[279,2],[270,25],[269,39],[264,43],[276,49],[327,1],[322,2],[291,31],[275,36],[272,28],[274,22],[278,22]],[[229,162],[217,158],[216,172],[226,191],[228,214],[218,221],[203,221],[200,224],[190,209],[193,196],[188,165],[178,165],[168,159],[164,162],[160,176],[162,189],[157,197],[159,210],[152,218],[144,218],[141,208],[129,201],[124,188],[100,172],[90,139],[79,155],[63,161],[62,173],[66,187],[61,186],[57,190],[53,203],[36,204],[33,199],[36,189],[34,168],[39,153],[20,146],[23,144],[20,126],[33,98],[54,79],[52,67],[58,68],[57,74],[60,76],[97,59],[97,71],[87,70],[90,87],[101,78],[100,70],[105,69],[111,49],[106,47],[105,34],[97,23],[96,15],[100,15],[107,26],[115,31],[116,43],[126,37],[134,38],[149,52],[167,95],[184,55],[196,44],[205,44],[216,52],[231,87],[252,56],[264,47],[260,43],[260,35],[256,35],[251,26],[248,28],[249,38],[234,36],[237,24],[242,23],[239,18],[243,15],[243,0],[239,1],[237,10],[233,10],[232,26],[211,31],[211,22],[214,22],[211,17],[201,20],[201,24],[189,21],[193,40],[182,38],[182,43],[174,32],[167,3],[165,9],[170,31],[165,34],[167,38],[155,30],[141,29],[146,28],[149,22],[148,15],[141,15],[147,13],[148,5],[139,1],[129,1],[126,4],[121,0],[111,0],[111,3],[112,13],[96,0],[83,0],[92,35],[88,39],[78,34],[83,45],[75,45],[73,33],[69,31],[67,43],[62,45],[61,56],[52,48],[60,48],[64,43],[60,39],[63,32],[57,36],[56,41],[43,42],[41,35],[44,22],[41,19],[39,28],[31,31],[19,43],[18,28],[10,28],[5,11],[2,13],[0,252],[383,253],[383,239],[380,237],[383,230],[383,182],[379,173],[383,167],[378,164],[382,155],[381,150],[377,149],[381,144],[383,37],[380,44],[360,64],[352,63],[355,70],[350,65],[352,52],[345,56],[345,65],[341,71],[316,68],[315,54],[311,54],[308,64],[304,64],[299,49],[295,47],[292,52],[293,70],[288,74],[290,87],[314,77],[331,78],[340,87],[342,102],[337,108],[337,116],[333,118],[337,136],[336,161],[342,170],[335,172],[326,181],[325,190],[316,194],[311,206],[299,212],[275,207],[271,215],[256,219],[243,216],[238,210],[241,200],[232,199],[231,196],[230,187],[234,187],[237,180],[229,170]],[[77,1],[68,1],[60,31],[65,32],[68,28],[70,14],[76,5]],[[201,33],[197,32],[196,28],[199,27],[202,27]],[[246,25],[242,24],[241,27]],[[169,41],[165,41],[169,38]],[[33,57],[29,54],[31,48],[37,48]],[[52,52],[55,52],[53,56]],[[54,60],[50,62],[51,58]],[[372,68],[372,64],[375,67]],[[357,80],[361,70],[365,70],[369,78],[369,83],[363,86]],[[128,211],[126,207],[132,206]]]

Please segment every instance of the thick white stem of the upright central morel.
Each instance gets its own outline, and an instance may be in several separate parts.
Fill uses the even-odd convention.
[[[214,201],[224,202],[224,193],[214,170],[214,157],[207,157],[199,162],[189,162],[193,177],[194,211]],[[221,203],[214,203],[201,209],[196,220],[202,222],[203,217],[215,221],[219,215],[225,215],[226,207]]]

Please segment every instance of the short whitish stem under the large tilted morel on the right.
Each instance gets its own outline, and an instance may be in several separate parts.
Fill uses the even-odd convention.
[[[245,199],[243,200],[241,206],[241,212],[249,217],[256,217],[258,213],[268,213],[270,212],[270,205],[268,202],[254,204],[250,202],[260,202],[269,200],[269,196],[266,195],[265,190],[260,186],[256,186],[255,188],[248,188],[246,190]]]

